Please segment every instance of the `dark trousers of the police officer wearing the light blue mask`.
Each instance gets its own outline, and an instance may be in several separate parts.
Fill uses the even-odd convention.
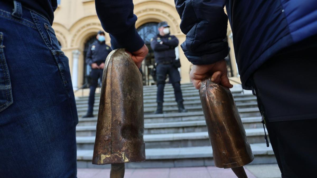
[[[87,113],[93,113],[94,111],[94,103],[95,103],[95,92],[98,86],[98,79],[102,80],[103,69],[92,69],[89,77],[89,100],[88,100],[88,111]]]

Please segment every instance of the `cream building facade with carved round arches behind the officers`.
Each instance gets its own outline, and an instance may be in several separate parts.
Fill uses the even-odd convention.
[[[179,39],[179,46],[175,49],[176,56],[180,59],[182,67],[179,69],[181,82],[190,82],[189,72],[191,63],[186,59],[180,44],[185,40],[185,35],[179,28],[180,18],[175,9],[173,0],[133,0],[134,14],[138,16],[136,28],[149,47],[150,39],[158,33],[157,23],[166,21],[170,25],[172,35]],[[94,0],[60,0],[55,11],[53,28],[60,43],[61,49],[69,58],[73,87],[77,89],[87,82],[89,66],[85,63],[85,54],[89,44],[102,30],[96,15]],[[111,17],[109,17],[111,18]],[[228,74],[236,77],[237,67],[233,51],[232,33],[228,23],[227,41],[230,54],[227,57]],[[106,34],[106,43],[110,46],[110,37]],[[153,67],[154,56],[152,49],[142,64],[142,73],[145,85],[152,85],[153,80],[149,71]]]

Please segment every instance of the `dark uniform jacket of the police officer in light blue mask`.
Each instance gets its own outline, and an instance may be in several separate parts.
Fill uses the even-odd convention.
[[[106,45],[105,41],[99,42],[96,40],[92,45],[89,46],[86,55],[86,63],[89,65],[92,63],[97,63],[100,65],[106,61],[106,58],[111,51],[112,49]]]

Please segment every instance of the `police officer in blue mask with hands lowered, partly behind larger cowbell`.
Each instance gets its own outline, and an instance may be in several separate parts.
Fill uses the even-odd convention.
[[[105,60],[112,49],[106,45],[105,33],[99,31],[97,40],[89,46],[89,50],[86,55],[86,63],[91,66],[91,72],[89,74],[89,101],[88,111],[83,118],[94,117],[94,102],[95,102],[95,91],[98,85],[98,79],[102,79],[103,67],[105,66]]]

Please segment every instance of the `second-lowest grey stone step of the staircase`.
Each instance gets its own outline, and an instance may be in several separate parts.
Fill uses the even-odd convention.
[[[264,143],[263,128],[246,129],[249,143]],[[76,137],[77,149],[93,149],[95,137]],[[188,132],[172,134],[144,135],[146,148],[178,148],[193,146],[209,146],[208,132]]]

